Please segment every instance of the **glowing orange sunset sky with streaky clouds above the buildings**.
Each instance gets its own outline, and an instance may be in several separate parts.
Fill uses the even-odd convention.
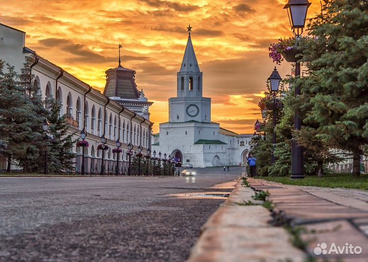
[[[203,96],[212,98],[212,121],[237,133],[253,133],[257,106],[275,64],[268,46],[291,36],[287,0],[5,1],[0,23],[25,31],[26,45],[40,56],[102,90],[105,71],[136,70],[136,83],[154,102],[151,121],[168,121],[168,99],[176,96],[190,23],[203,71]],[[320,9],[312,0],[308,16]],[[278,66],[282,77],[290,64]]]

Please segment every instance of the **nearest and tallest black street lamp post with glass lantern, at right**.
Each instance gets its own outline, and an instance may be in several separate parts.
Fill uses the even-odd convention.
[[[299,40],[305,27],[305,20],[307,17],[308,8],[311,3],[308,0],[289,0],[284,9],[287,10],[290,26],[293,34],[296,36],[296,41]],[[301,64],[295,62],[295,76],[301,75]],[[300,96],[300,86],[295,86],[295,97]],[[300,130],[302,126],[300,109],[296,108],[294,111],[294,129]],[[292,179],[304,178],[304,159],[303,147],[301,147],[295,138],[291,139],[291,176]]]

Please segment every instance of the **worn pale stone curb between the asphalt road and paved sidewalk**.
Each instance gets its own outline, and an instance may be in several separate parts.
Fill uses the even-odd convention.
[[[203,225],[187,262],[304,261],[305,253],[291,244],[289,233],[268,223],[272,217],[266,208],[241,204],[256,202],[254,191],[241,182]]]

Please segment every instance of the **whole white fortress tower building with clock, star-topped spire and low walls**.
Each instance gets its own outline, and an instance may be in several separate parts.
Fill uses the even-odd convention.
[[[177,73],[177,96],[169,99],[169,122],[152,135],[152,151],[195,167],[244,165],[252,134],[237,134],[211,121],[211,98],[204,98],[203,73],[188,42]]]

